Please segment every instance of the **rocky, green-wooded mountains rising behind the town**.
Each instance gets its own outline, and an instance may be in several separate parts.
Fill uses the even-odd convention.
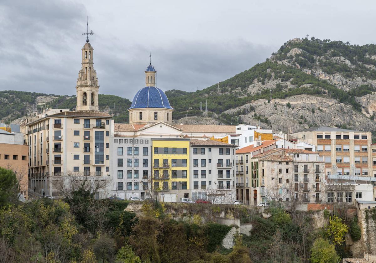
[[[291,39],[265,62],[219,85],[166,95],[179,124],[244,123],[286,132],[327,125],[376,131],[376,45]],[[0,102],[0,121],[9,122],[44,104],[73,109],[76,97],[1,91]],[[100,94],[99,103],[116,122],[128,121],[129,100]]]

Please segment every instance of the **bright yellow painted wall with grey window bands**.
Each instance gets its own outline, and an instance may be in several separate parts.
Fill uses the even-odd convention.
[[[187,182],[187,190],[190,189],[190,141],[181,141],[181,140],[174,140],[174,141],[152,141],[153,142],[153,160],[152,160],[152,176],[154,176],[154,170],[159,170],[159,176],[163,176],[163,170],[166,169],[154,169],[154,159],[159,159],[159,164],[163,163],[163,159],[168,159],[168,165],[171,167],[171,159],[186,159],[187,160],[187,167],[171,167],[169,168],[169,180],[168,180],[168,188],[171,189],[171,182]],[[154,147],[158,148],[187,148],[187,154],[155,154]],[[171,178],[171,171],[187,171],[187,178]],[[159,186],[162,186],[162,180],[159,180]]]

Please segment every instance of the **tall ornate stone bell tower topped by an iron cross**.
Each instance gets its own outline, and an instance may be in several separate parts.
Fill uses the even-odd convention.
[[[82,48],[82,68],[77,78],[77,107],[76,110],[98,111],[98,78],[97,72],[93,68],[93,48],[89,43],[89,35],[94,33],[84,33],[87,35],[86,44]]]

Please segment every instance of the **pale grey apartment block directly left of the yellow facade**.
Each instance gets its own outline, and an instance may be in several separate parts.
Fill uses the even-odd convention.
[[[150,198],[152,175],[151,138],[118,136],[110,139],[110,174],[113,196]]]

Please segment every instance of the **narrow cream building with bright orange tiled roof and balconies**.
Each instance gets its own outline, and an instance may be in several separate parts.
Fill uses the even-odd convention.
[[[235,175],[236,175],[236,196],[237,200],[242,200],[244,204],[250,204],[252,181],[251,169],[253,163],[250,159],[257,155],[274,149],[276,147],[275,140],[257,141],[256,145],[249,145],[247,147],[236,150],[235,156]]]

